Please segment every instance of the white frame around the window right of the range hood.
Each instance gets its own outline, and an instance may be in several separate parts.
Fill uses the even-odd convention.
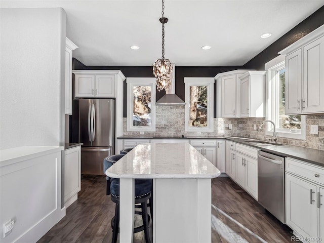
[[[184,77],[185,84],[185,132],[213,132],[214,131],[214,83],[213,77]],[[207,86],[207,127],[190,127],[190,86]]]

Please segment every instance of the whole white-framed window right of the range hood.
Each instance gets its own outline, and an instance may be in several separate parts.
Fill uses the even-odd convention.
[[[214,78],[185,77],[185,131],[214,131]]]

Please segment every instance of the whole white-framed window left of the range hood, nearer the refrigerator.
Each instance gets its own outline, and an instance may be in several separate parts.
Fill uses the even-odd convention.
[[[127,82],[127,131],[155,131],[155,78],[129,77]]]

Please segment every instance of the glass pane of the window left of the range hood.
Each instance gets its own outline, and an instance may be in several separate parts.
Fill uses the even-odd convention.
[[[133,87],[133,126],[151,126],[151,86]]]

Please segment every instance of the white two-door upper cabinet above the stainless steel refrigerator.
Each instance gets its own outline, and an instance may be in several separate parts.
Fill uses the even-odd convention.
[[[114,98],[118,78],[125,80],[119,70],[73,70],[74,97]]]

